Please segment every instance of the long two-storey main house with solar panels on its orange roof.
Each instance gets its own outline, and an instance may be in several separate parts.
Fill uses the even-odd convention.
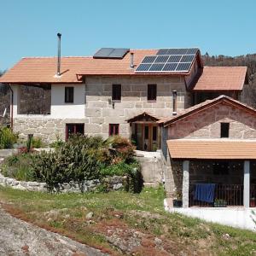
[[[73,132],[119,134],[154,151],[161,142],[157,120],[207,97],[241,99],[247,68],[203,67],[195,48],[100,49],[88,57],[23,58],[0,83],[13,91],[11,124],[22,138],[33,134],[49,143]],[[26,113],[24,86],[47,89],[49,110]]]

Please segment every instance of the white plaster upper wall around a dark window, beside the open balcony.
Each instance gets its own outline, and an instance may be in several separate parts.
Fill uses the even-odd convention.
[[[67,84],[74,87],[73,103],[65,103],[65,84],[51,85],[50,117],[54,119],[84,118],[84,84]]]

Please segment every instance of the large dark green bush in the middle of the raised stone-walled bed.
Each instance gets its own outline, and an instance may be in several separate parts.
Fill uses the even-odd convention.
[[[32,162],[36,179],[46,182],[49,190],[60,190],[62,183],[78,182],[83,191],[84,180],[100,177],[101,144],[97,137],[74,136],[55,152],[37,154]]]

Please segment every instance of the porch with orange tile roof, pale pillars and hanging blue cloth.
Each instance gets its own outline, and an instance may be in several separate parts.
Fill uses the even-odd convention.
[[[183,208],[256,207],[254,141],[170,140],[167,144]],[[175,162],[182,169],[179,176]]]

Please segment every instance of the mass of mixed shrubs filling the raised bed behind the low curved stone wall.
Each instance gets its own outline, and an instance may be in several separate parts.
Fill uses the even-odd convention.
[[[142,189],[140,166],[127,139],[112,137],[104,141],[102,137],[73,136],[48,153],[32,153],[27,148],[4,162],[6,176],[47,183],[49,191],[59,191],[61,184],[73,182],[84,191],[84,180],[126,176],[127,191]]]

